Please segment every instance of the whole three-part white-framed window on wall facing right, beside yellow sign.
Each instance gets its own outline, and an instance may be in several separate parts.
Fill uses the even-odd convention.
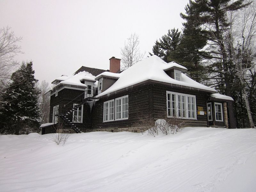
[[[168,117],[196,119],[196,96],[166,91]]]

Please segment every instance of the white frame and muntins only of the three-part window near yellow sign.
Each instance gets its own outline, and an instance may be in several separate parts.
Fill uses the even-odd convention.
[[[168,94],[171,94],[170,95],[170,99],[172,97],[172,95],[175,95],[175,101],[174,100],[168,100]],[[182,101],[182,96],[185,97],[185,102],[181,102],[181,104],[185,103],[185,114],[186,116],[182,116],[184,113],[184,108],[182,107],[181,105],[181,108],[179,108],[179,100],[178,100],[178,97],[181,96],[181,101]],[[188,97],[191,98],[191,102],[192,102],[192,98],[194,98],[194,103],[191,103],[191,108],[192,108],[192,105],[194,104],[194,110],[192,108],[192,110],[190,110],[190,112],[192,111],[192,115],[193,115],[193,112],[194,112],[194,115],[195,117],[188,117]],[[172,105],[170,103],[170,107],[168,108],[168,102],[171,101],[172,102]],[[172,108],[173,107],[173,101],[174,101],[174,104],[175,104],[175,108]],[[170,115],[168,113],[168,110],[170,110]],[[182,111],[181,113],[181,116],[179,116],[179,110]],[[175,111],[175,116],[173,116],[173,111]],[[167,112],[167,117],[168,118],[180,118],[180,119],[192,119],[192,120],[197,120],[197,114],[196,114],[196,96],[195,95],[189,95],[189,94],[184,94],[184,93],[178,93],[178,92],[171,92],[171,91],[166,91],[166,112]]]

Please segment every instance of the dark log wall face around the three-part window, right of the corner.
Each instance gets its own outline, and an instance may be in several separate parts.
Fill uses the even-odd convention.
[[[152,84],[153,92],[153,113],[154,119],[166,116],[166,91],[178,92],[196,96],[196,117],[197,120],[184,120],[188,126],[207,126],[207,115],[198,115],[198,107],[203,107],[206,111],[206,100],[209,96],[208,92],[195,89],[185,89],[179,85]]]

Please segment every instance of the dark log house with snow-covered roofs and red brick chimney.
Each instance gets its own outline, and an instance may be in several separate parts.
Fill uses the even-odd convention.
[[[110,70],[81,67],[52,82],[51,123],[41,125],[42,134],[55,132],[58,122],[66,132],[138,132],[138,120],[147,116],[228,128],[233,99],[186,76],[187,68],[153,55],[120,73],[120,59],[109,60]]]

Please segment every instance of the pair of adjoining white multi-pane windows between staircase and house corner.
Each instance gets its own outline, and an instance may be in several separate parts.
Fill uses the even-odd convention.
[[[128,119],[128,95],[103,104],[103,122]]]

